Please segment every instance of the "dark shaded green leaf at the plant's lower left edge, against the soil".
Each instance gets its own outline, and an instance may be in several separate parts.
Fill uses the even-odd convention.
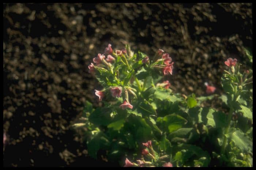
[[[110,146],[110,142],[107,139],[107,136],[98,132],[88,143],[88,154],[90,157],[97,159],[97,152],[99,149],[107,149]]]

